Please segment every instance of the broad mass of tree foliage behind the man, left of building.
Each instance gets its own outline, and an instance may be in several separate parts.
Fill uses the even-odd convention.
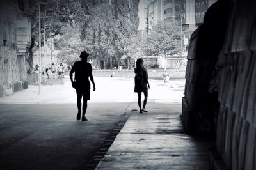
[[[43,43],[43,35],[38,42],[38,1],[24,0],[26,9],[22,13],[31,19],[34,50]],[[51,16],[45,19],[45,39],[60,37],[54,45],[64,63],[74,62],[81,50],[88,50],[90,59],[98,64],[103,61],[110,68],[118,66],[121,56],[134,57],[134,45],[140,42],[138,3],[138,0],[47,0],[47,4],[41,5],[41,16],[45,12]]]

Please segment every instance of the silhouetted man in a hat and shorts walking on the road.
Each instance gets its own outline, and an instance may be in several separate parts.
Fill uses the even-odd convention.
[[[87,100],[90,100],[90,81],[88,78],[90,78],[92,84],[93,84],[93,91],[95,91],[95,83],[93,80],[92,75],[92,65],[90,63],[87,63],[87,58],[89,54],[86,51],[81,52],[80,58],[81,61],[77,61],[72,66],[72,69],[70,71],[70,80],[72,83],[72,87],[76,89],[76,95],[77,95],[77,120],[81,119],[81,99],[83,97],[83,115],[82,115],[82,121],[86,121],[87,118],[85,117],[86,109],[87,109]],[[73,81],[73,73],[75,72],[75,79]]]

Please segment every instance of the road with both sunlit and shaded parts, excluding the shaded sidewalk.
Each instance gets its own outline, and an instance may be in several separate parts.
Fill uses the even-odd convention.
[[[75,120],[76,93],[69,81],[42,86],[42,95],[29,86],[0,98],[0,169],[83,169],[125,112],[138,109],[133,79],[95,77],[95,82],[86,122]],[[168,113],[171,103],[181,111],[184,80],[150,86],[148,111]]]

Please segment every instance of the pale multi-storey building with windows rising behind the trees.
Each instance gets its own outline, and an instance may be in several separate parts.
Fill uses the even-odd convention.
[[[202,24],[206,10],[216,0],[148,0],[145,3],[145,32],[161,20],[177,22],[182,27],[182,49],[187,51],[191,34]]]

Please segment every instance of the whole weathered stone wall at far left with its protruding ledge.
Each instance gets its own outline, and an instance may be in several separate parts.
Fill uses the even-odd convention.
[[[14,0],[0,1],[0,97],[28,88],[31,24],[19,16],[18,6]]]

